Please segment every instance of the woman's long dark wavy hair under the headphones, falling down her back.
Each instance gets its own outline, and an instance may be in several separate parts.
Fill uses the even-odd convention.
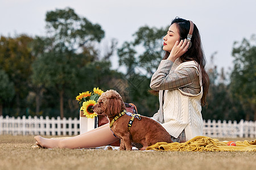
[[[189,21],[176,17],[174,20],[172,20],[171,25],[174,23],[177,25],[177,30],[179,31],[180,40],[187,39],[189,28],[190,28]],[[206,59],[205,59],[204,51],[201,45],[201,37],[195,24],[194,24],[194,29],[192,33],[191,43],[192,43],[191,48],[189,48],[188,51],[185,52],[185,54],[183,54],[180,57],[180,59],[182,62],[193,60],[199,63],[201,73],[202,73],[202,83],[203,83],[203,97],[201,99],[201,105],[207,105],[206,96],[208,94],[208,88],[209,88],[209,76],[204,69]],[[169,55],[170,53],[166,52],[164,54],[163,59],[167,59]]]

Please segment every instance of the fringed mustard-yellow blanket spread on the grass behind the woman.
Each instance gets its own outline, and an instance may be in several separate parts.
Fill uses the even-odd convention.
[[[256,139],[254,141],[237,141],[236,146],[228,146],[228,141],[220,142],[209,137],[195,137],[184,143],[158,142],[147,147],[146,150],[157,151],[256,151]]]

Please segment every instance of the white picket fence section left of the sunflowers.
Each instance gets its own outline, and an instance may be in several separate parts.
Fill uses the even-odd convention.
[[[0,135],[78,135],[80,134],[80,121],[77,118],[49,119],[47,116],[43,118],[23,116],[9,117],[0,116]]]

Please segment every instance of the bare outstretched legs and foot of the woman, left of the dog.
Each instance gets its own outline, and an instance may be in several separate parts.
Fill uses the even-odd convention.
[[[110,143],[118,141],[119,138],[114,137],[109,128],[109,124],[106,124],[100,128],[67,139],[48,139],[36,136],[35,140],[37,145],[46,148],[89,148],[109,145]]]

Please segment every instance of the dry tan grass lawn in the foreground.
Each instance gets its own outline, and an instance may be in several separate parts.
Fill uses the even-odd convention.
[[[232,139],[220,139],[231,141]],[[245,139],[233,139],[233,141]],[[252,140],[252,139],[246,139]],[[141,152],[32,148],[31,136],[0,135],[0,169],[255,169],[255,152]]]

